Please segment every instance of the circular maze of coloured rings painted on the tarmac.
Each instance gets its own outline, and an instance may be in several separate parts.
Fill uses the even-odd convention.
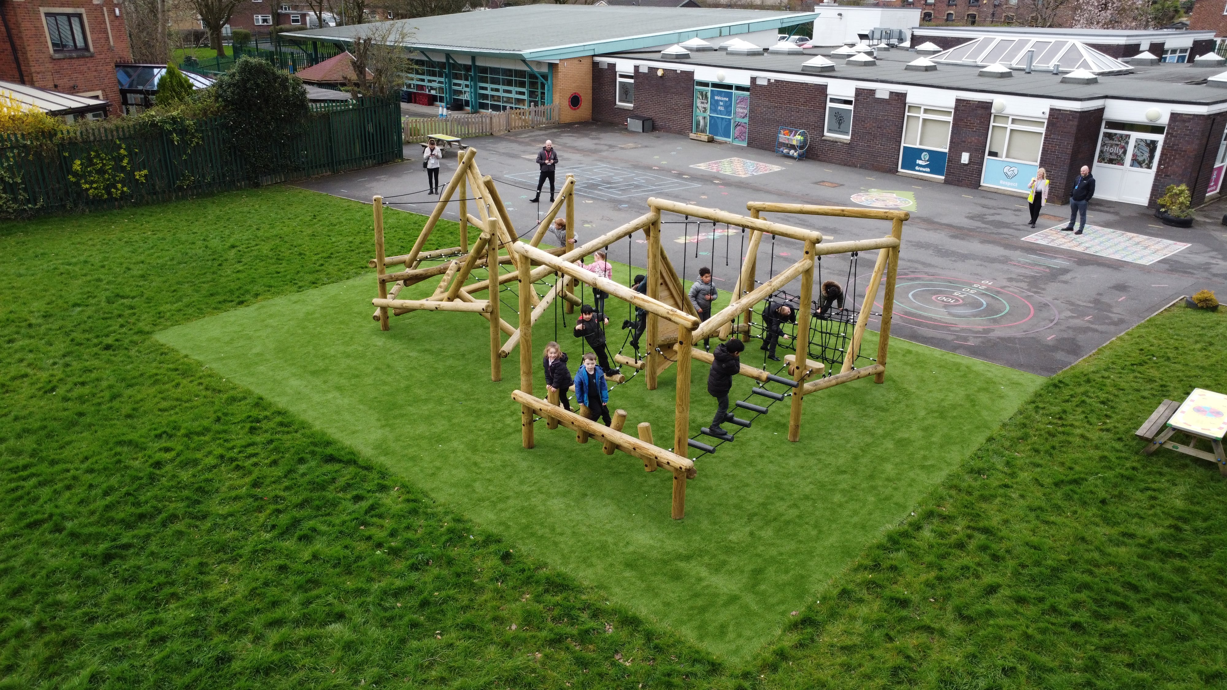
[[[1052,328],[1060,314],[1048,300],[995,280],[899,275],[894,318],[931,333],[1009,338]]]

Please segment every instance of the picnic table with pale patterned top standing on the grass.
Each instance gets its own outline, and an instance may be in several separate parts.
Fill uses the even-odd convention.
[[[1184,403],[1163,400],[1135,435],[1146,441],[1142,453],[1151,455],[1160,448],[1171,448],[1194,458],[1218,465],[1218,473],[1227,476],[1227,455],[1223,454],[1223,433],[1227,432],[1227,395],[1194,388]],[[1188,436],[1189,442],[1172,441],[1177,433]],[[1211,452],[1198,448],[1199,441],[1207,441]]]

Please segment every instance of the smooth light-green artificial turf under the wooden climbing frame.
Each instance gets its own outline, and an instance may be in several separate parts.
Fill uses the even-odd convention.
[[[627,273],[618,266],[616,277]],[[401,296],[428,295],[434,282]],[[667,473],[645,474],[639,460],[609,458],[596,443],[577,446],[573,432],[551,432],[544,422],[536,448],[520,447],[509,397],[519,386],[518,351],[503,361],[502,382],[492,383],[483,319],[413,313],[383,333],[371,319],[373,285],[373,274],[363,275],[175,327],[158,339],[734,662],[778,634],[821,583],[1042,382],[896,340],[887,384],[864,379],[807,398],[800,443],[787,441],[785,403],[698,460],[686,519],[674,522]],[[504,309],[515,304],[513,292],[503,295]],[[625,306],[609,304],[616,349]],[[542,316],[534,329],[537,370],[542,346],[555,338],[578,367],[580,341],[567,325],[556,330],[558,313]],[[865,349],[875,352],[876,340]],[[757,363],[761,355],[752,347],[746,360]],[[707,368],[694,362],[692,431],[714,411]],[[535,376],[544,397],[541,372]],[[746,397],[751,383],[740,378],[734,395]],[[611,408],[627,410],[626,428],[650,422],[669,446],[674,386],[675,368],[656,392],[636,377],[611,392]]]

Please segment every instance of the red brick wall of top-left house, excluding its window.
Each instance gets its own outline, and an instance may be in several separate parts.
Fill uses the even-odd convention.
[[[40,11],[43,7],[80,10],[86,20],[90,50],[53,55]],[[25,76],[26,83],[31,86],[64,93],[101,91],[102,98],[110,102],[109,113],[121,112],[114,65],[130,63],[133,56],[128,48],[124,12],[118,0],[97,5],[93,0],[26,0],[5,2],[4,12],[17,45],[22,74],[17,74],[15,60],[0,60],[0,79],[20,83]],[[0,37],[0,45],[4,45],[2,53],[10,53],[7,37]]]

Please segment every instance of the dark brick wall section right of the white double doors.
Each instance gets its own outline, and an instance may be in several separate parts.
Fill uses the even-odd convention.
[[[1155,172],[1155,184],[1151,187],[1150,206],[1163,195],[1168,184],[1188,184],[1194,205],[1205,200],[1225,125],[1227,114],[1172,113],[1163,136],[1163,152]]]

